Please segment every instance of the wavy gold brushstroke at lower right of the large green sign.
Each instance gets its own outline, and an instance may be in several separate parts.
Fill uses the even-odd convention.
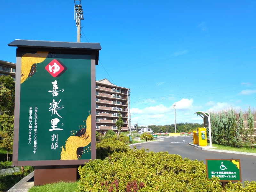
[[[91,142],[91,115],[86,119],[86,132],[84,135],[70,136],[65,144],[65,149],[62,146],[60,159],[61,160],[76,160],[78,159],[76,155],[76,150],[79,147],[86,147]]]

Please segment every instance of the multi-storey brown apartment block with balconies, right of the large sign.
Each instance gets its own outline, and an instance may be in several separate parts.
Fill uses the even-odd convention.
[[[122,132],[128,131],[128,88],[116,86],[102,79],[96,81],[96,131],[105,134],[108,130],[117,132],[119,113],[124,121]]]

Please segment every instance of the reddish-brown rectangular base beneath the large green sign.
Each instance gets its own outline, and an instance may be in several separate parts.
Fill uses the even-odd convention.
[[[78,165],[35,166],[34,185],[60,181],[76,182]]]

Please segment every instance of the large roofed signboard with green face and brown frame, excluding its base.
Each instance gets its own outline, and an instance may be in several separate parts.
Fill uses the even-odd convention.
[[[100,44],[15,40],[13,164],[94,159],[95,64]]]

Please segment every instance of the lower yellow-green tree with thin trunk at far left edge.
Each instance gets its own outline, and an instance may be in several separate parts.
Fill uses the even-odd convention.
[[[4,114],[0,116],[0,147],[7,151],[6,161],[8,161],[8,153],[13,146],[13,123],[13,115]]]

